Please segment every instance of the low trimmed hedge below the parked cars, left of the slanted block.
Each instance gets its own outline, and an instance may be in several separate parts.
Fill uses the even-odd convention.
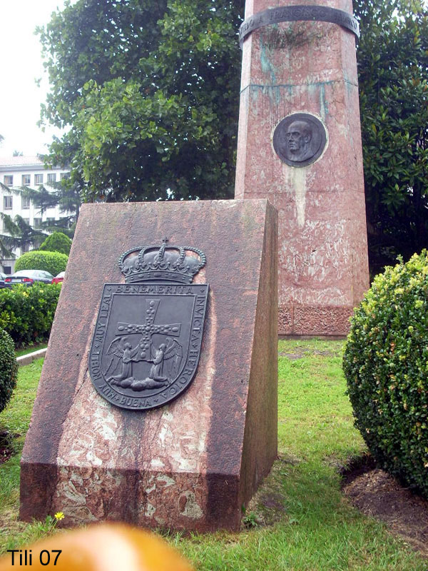
[[[0,328],[16,345],[48,339],[60,291],[61,283],[41,282],[0,290]]]

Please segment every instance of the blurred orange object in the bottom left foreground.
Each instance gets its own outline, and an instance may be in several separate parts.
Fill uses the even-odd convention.
[[[161,537],[123,524],[92,525],[57,533],[26,549],[15,550],[13,554],[8,552],[0,559],[0,571],[23,568],[31,571],[194,571]]]

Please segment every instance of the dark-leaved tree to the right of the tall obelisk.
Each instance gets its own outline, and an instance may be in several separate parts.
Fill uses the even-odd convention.
[[[357,0],[370,266],[428,246],[428,14],[422,2]]]

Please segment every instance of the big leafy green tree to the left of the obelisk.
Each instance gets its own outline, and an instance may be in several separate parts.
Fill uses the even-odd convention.
[[[39,29],[47,159],[86,200],[232,197],[243,0],[78,0]],[[66,41],[64,41],[66,38]]]

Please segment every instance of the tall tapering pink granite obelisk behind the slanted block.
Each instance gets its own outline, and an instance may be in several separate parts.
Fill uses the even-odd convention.
[[[247,0],[245,19],[301,4]],[[305,1],[305,8],[321,4],[352,15],[352,0]],[[346,334],[369,285],[355,51],[349,29],[298,17],[243,41],[235,198],[269,198],[278,211],[280,335]],[[305,139],[302,117],[325,133],[310,163],[284,156],[297,156],[293,126]],[[281,121],[282,158],[274,148]]]

